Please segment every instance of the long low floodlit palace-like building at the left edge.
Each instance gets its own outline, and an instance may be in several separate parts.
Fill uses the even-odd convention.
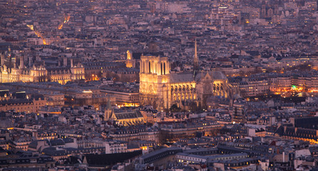
[[[55,81],[65,84],[68,81],[81,79],[85,79],[85,70],[80,63],[58,68],[46,68],[43,65],[34,65],[31,68],[23,66],[8,68],[3,65],[0,71],[0,83]]]

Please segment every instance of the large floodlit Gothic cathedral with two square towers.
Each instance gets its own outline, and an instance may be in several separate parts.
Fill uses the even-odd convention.
[[[170,73],[167,57],[145,55],[140,57],[140,105],[156,109],[196,104],[205,105],[211,95],[227,97],[230,85],[220,71],[198,73]]]

